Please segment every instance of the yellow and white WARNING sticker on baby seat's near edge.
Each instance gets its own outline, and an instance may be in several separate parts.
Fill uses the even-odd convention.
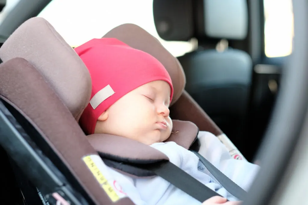
[[[113,188],[114,179],[108,173],[107,166],[98,155],[85,156],[83,157],[83,161],[86,163],[87,167],[90,169],[95,179],[107,193],[112,202],[116,202],[125,197],[124,193]]]

